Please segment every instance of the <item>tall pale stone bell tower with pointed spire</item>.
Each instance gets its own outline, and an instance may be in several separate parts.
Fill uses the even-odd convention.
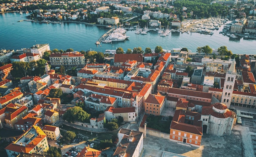
[[[229,70],[226,73],[226,78],[225,78],[225,82],[222,90],[222,96],[221,96],[221,103],[224,103],[225,105],[227,105],[227,108],[230,107],[235,80],[236,80],[236,62],[235,62],[235,59],[233,59],[233,62],[231,63]]]

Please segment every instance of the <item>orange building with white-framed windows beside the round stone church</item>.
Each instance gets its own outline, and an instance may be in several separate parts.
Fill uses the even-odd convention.
[[[170,140],[200,147],[203,135],[200,119],[198,112],[176,110],[170,126]]]

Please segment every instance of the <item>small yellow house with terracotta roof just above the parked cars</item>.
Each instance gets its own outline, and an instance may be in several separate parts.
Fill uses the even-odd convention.
[[[47,139],[58,140],[61,137],[60,129],[57,126],[43,126],[43,132],[47,136]]]

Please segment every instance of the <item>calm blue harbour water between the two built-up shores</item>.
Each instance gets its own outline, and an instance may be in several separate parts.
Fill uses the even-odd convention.
[[[28,14],[27,14],[28,15]],[[256,40],[230,40],[229,37],[219,34],[222,27],[213,31],[212,36],[207,34],[181,34],[171,33],[169,36],[159,36],[151,31],[146,35],[137,35],[135,31],[127,31],[128,40],[123,42],[101,43],[96,46],[94,43],[108,31],[105,27],[92,27],[77,23],[46,24],[18,20],[25,20],[26,14],[0,13],[0,49],[21,49],[29,48],[36,44],[49,43],[51,49],[68,49],[75,51],[94,50],[105,52],[106,49],[122,47],[124,51],[128,48],[146,47],[155,49],[161,46],[163,49],[187,47],[196,52],[197,47],[209,45],[214,49],[220,46],[227,46],[235,54],[256,54]]]

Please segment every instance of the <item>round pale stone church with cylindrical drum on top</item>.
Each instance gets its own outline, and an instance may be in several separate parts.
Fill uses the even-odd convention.
[[[231,135],[231,130],[236,124],[236,113],[229,110],[224,103],[214,103],[211,106],[203,106],[200,122],[204,133],[216,136]]]

